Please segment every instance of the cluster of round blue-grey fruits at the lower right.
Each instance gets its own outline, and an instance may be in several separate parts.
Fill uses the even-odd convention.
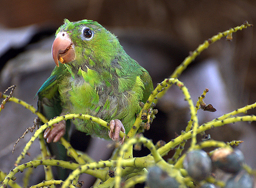
[[[219,148],[211,152],[211,157],[203,150],[193,150],[186,154],[183,167],[195,181],[207,180],[213,168],[219,168],[232,176],[226,182],[226,188],[253,188],[253,179],[243,170],[244,155],[238,149]],[[179,183],[159,167],[149,170],[147,185],[150,188],[178,188]],[[215,188],[213,183],[202,183],[201,188]]]

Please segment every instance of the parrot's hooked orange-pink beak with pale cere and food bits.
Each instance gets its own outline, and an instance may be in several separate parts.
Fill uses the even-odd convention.
[[[52,57],[57,66],[59,62],[68,63],[75,60],[75,50],[67,32],[59,32],[52,44]]]

